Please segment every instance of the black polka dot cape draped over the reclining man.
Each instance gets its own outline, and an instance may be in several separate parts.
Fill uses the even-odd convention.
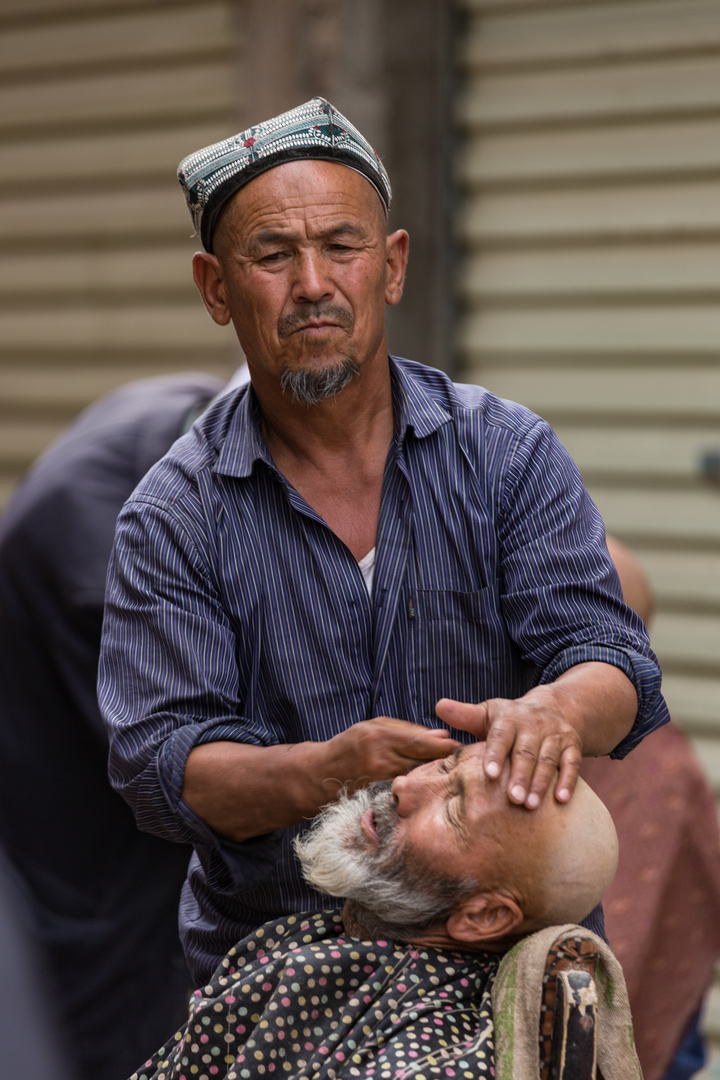
[[[498,963],[361,942],[339,910],[290,915],[230,950],[132,1080],[493,1077]]]

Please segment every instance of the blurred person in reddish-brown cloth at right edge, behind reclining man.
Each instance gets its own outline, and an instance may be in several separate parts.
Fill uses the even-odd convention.
[[[653,594],[633,552],[608,537],[626,603],[650,629]],[[720,834],[715,798],[673,723],[631,759],[586,759],[612,814],[620,864],[602,902],[623,966],[646,1080],[689,1080],[705,1064],[699,1014],[720,957]]]

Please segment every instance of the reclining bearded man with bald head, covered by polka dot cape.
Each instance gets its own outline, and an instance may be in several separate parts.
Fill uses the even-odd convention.
[[[530,811],[507,798],[510,767],[490,780],[484,756],[465,747],[326,807],[296,847],[342,912],[240,942],[136,1078],[492,1076],[501,954],[587,915],[617,841],[583,781]]]

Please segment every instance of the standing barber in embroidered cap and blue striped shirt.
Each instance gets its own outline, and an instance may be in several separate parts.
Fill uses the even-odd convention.
[[[326,897],[293,836],[351,788],[487,740],[508,797],[667,719],[602,522],[549,427],[389,357],[408,235],[322,98],[187,158],[194,278],[252,389],[212,407],[119,519],[100,704],[138,823],[195,848],[198,983]],[[475,704],[478,703],[479,704]]]

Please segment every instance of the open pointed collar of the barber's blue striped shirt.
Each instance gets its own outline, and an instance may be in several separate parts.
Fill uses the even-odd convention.
[[[398,361],[389,356],[390,378],[393,394],[393,415],[395,418],[395,441],[404,442],[408,429],[411,428],[416,438],[432,435],[443,424],[451,419],[439,392],[436,379],[432,386],[423,372],[422,364],[410,361]],[[437,376],[438,373],[434,372]],[[215,464],[215,472],[227,476],[249,476],[256,461],[264,461],[273,471],[277,471],[270,456],[266,441],[262,437],[260,407],[252,389],[234,399],[234,413],[227,429],[227,435],[220,447]],[[229,403],[230,404],[230,403]]]

